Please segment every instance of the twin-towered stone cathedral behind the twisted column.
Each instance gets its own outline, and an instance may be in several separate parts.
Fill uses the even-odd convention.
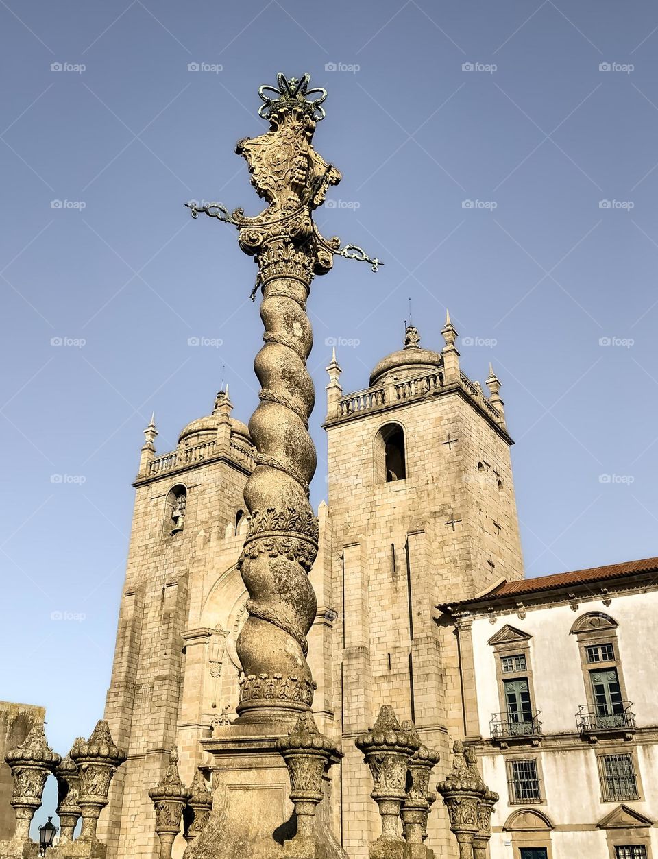
[[[318,511],[308,661],[318,727],[342,737],[330,811],[354,859],[368,855],[378,817],[356,734],[393,704],[442,753],[441,770],[449,742],[477,730],[459,679],[470,636],[455,641],[435,606],[522,576],[500,382],[490,371],[484,396],[460,371],[449,316],[442,335],[437,352],[407,328],[404,348],[357,393],[344,395],[335,355],[327,368],[329,496]],[[204,740],[235,719],[235,643],[247,618],[236,562],[254,448],[231,411],[227,389],[167,454],[155,454],[153,421],[144,432],[107,693],[113,738],[128,750],[99,826],[112,859],[158,856],[148,790],[171,746],[189,784],[209,763]],[[443,808],[431,816],[430,838],[437,856],[452,856]],[[174,856],[184,845],[179,838]]]

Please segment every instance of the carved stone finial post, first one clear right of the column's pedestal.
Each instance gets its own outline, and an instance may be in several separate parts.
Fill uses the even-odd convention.
[[[381,836],[370,845],[370,856],[402,856],[404,841],[399,835],[399,813],[406,799],[407,766],[411,755],[420,747],[417,734],[402,728],[393,707],[380,710],[373,728],[359,734],[356,748],[370,767],[373,792],[370,794],[379,806]]]

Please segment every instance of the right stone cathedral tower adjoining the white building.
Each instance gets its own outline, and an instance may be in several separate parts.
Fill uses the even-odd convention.
[[[523,575],[500,382],[490,369],[487,398],[460,371],[449,314],[442,335],[441,352],[423,349],[408,327],[404,348],[377,364],[366,390],[348,396],[335,356],[327,368],[333,685],[350,856],[367,856],[375,832],[369,773],[354,739],[381,705],[416,723],[441,766],[448,740],[469,733],[475,703],[462,700],[460,647],[437,623],[436,604]],[[441,856],[450,855],[444,815],[442,808],[430,819]]]

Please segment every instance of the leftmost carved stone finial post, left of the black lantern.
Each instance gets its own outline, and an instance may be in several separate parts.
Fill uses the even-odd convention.
[[[46,741],[43,722],[36,722],[20,746],[7,752],[4,759],[14,778],[14,807],[16,828],[12,841],[16,844],[29,841],[30,823],[41,805],[46,778],[62,758],[52,751]]]

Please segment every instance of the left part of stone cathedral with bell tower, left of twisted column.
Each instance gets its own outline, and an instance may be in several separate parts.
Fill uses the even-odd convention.
[[[144,430],[105,713],[129,753],[101,821],[110,856],[158,855],[149,786],[175,743],[189,781],[198,740],[235,707],[235,637],[246,600],[235,562],[253,444],[231,410],[227,386],[212,413],[187,424],[178,447],[162,456],[153,419]]]

